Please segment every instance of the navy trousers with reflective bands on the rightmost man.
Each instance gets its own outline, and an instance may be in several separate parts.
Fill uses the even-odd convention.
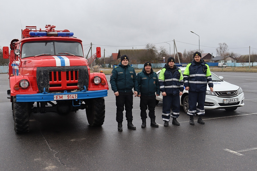
[[[206,91],[189,91],[188,92],[187,115],[204,115],[205,95],[206,95]]]

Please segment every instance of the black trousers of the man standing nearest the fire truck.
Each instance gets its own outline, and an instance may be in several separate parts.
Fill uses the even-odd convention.
[[[123,111],[124,111],[124,105],[126,110],[126,119],[128,121],[132,121],[132,108],[133,108],[133,92],[119,92],[119,96],[116,96],[116,106],[117,106],[117,112],[116,112],[116,121],[122,122],[123,121]]]

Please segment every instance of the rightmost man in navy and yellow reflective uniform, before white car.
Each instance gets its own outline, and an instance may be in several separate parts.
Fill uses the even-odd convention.
[[[204,101],[207,84],[210,91],[213,91],[213,82],[208,64],[204,62],[200,52],[195,52],[193,58],[192,62],[187,64],[183,74],[185,90],[188,90],[187,115],[190,116],[190,125],[194,125],[194,115],[198,115],[198,123],[204,124],[202,115],[205,113]]]

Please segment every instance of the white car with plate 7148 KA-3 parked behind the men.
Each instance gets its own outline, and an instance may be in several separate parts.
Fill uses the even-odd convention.
[[[186,67],[181,67],[182,74]],[[212,72],[211,72],[212,73]],[[159,78],[160,70],[156,72]],[[227,111],[234,111],[237,107],[244,105],[244,92],[241,87],[230,84],[223,80],[223,77],[218,77],[212,73],[212,82],[214,91],[211,92],[207,85],[206,98],[204,109],[225,109]],[[156,104],[162,101],[162,93],[156,96]],[[180,105],[183,106],[184,111],[188,111],[188,91],[184,89],[183,95],[180,96]]]

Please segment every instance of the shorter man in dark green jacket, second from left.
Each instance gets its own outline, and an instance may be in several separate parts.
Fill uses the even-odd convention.
[[[146,62],[144,64],[144,68],[142,72],[137,74],[138,80],[138,97],[140,97],[140,116],[142,119],[141,128],[146,127],[146,109],[148,106],[149,110],[149,117],[151,120],[150,126],[151,127],[159,127],[158,124],[155,123],[155,114],[154,109],[156,105],[156,95],[160,95],[160,87],[157,74],[152,70],[152,64],[150,62]]]

